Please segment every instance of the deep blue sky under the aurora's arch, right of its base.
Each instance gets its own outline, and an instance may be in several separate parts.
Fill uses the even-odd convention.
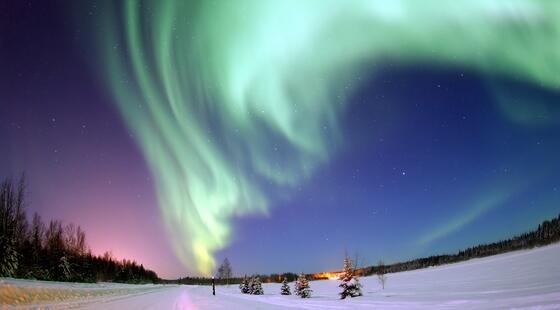
[[[240,220],[223,255],[261,249],[248,265],[265,270],[270,253],[279,270],[333,268],[345,251],[364,264],[398,261],[508,238],[559,211],[560,128],[512,123],[475,72],[388,67],[355,94],[343,124],[332,162],[269,219]],[[501,192],[489,210],[421,242]]]

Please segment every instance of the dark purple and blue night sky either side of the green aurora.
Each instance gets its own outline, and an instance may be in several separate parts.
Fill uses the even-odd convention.
[[[95,253],[182,275],[89,34],[56,4],[0,12],[0,177],[25,172],[29,212],[82,225]],[[526,100],[545,106],[532,122],[504,108]],[[510,77],[388,59],[340,114],[330,161],[270,189],[268,216],[236,218],[218,260],[236,273],[312,272],[338,268],[344,252],[393,262],[531,229],[560,212],[559,100]]]

